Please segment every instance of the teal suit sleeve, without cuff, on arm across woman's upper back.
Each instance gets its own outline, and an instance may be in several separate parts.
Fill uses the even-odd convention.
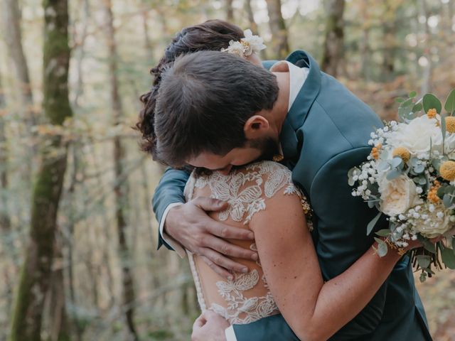
[[[185,202],[183,190],[185,189],[188,177],[189,174],[186,171],[173,168],[167,168],[164,172],[164,175],[161,177],[161,180],[156,187],[152,200],[155,217],[159,224],[161,224],[161,219],[165,218],[163,215],[169,205],[177,202]],[[164,241],[161,234],[159,234],[158,240],[158,249],[163,244],[168,249],[172,249],[172,247]]]

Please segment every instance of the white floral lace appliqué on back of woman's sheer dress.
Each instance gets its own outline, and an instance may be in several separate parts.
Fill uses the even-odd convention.
[[[265,198],[273,197],[284,188],[284,194],[298,195],[305,215],[307,217],[311,215],[306,198],[292,183],[289,169],[272,161],[252,163],[245,169],[247,171],[245,173],[232,171],[229,175],[223,175],[213,172],[197,178],[193,173],[186,185],[185,195],[190,200],[193,197],[194,188],[204,188],[208,185],[211,191],[210,196],[229,202],[228,209],[219,213],[220,220],[227,220],[230,217],[235,222],[248,224],[255,213],[265,210]],[[311,229],[310,220],[308,220],[308,224]],[[252,243],[250,249],[257,251],[256,244]],[[253,269],[247,274],[234,274],[234,278],[229,281],[216,282],[218,293],[223,297],[227,306],[212,303],[210,307],[207,307],[193,254],[188,252],[188,258],[196,284],[198,302],[202,310],[210,308],[223,316],[230,324],[252,323],[278,312],[277,304],[268,290],[265,296],[245,296],[245,291],[257,286],[259,280],[262,281],[265,288],[268,288],[265,276],[262,275],[259,278],[257,269]],[[259,260],[257,265],[261,266]]]

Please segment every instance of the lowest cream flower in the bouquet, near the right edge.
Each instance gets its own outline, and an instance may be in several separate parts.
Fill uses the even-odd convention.
[[[412,222],[414,231],[420,232],[422,236],[439,237],[454,227],[454,224],[450,222],[449,212],[441,201],[434,204],[434,210],[429,210],[429,205],[425,205],[424,211],[426,215]]]

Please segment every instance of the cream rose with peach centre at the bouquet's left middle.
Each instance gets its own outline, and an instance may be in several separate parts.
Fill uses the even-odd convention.
[[[423,203],[417,194],[417,186],[407,175],[400,175],[393,180],[384,177],[380,181],[379,192],[381,212],[390,217],[401,215],[410,207]]]

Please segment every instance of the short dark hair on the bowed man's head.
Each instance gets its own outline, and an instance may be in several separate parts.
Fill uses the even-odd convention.
[[[202,152],[225,155],[245,146],[243,127],[278,97],[272,72],[220,51],[178,58],[161,80],[156,102],[156,155],[183,166]]]

